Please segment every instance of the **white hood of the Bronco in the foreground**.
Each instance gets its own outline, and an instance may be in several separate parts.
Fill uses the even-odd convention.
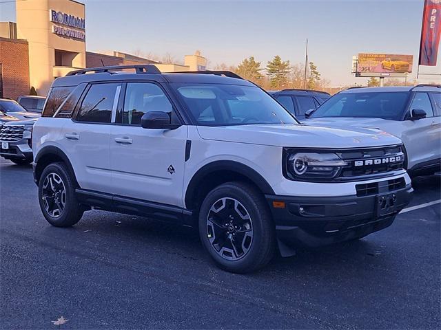
[[[205,140],[304,148],[358,148],[400,144],[389,133],[373,129],[351,130],[309,125],[198,126]]]

